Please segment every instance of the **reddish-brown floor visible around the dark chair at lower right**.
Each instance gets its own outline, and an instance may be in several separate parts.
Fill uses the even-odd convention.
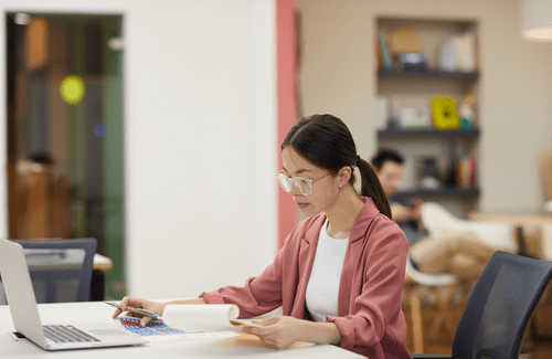
[[[404,315],[406,317],[406,325],[408,328],[407,335],[407,347],[408,351],[413,352],[413,340],[410,332],[411,328],[411,315],[407,308],[404,308]],[[423,327],[424,327],[424,352],[427,353],[450,353],[453,348],[454,334],[449,334],[443,326],[439,334],[435,338],[431,338],[427,332],[432,324],[432,318],[435,313],[435,308],[432,306],[422,307],[423,316]],[[454,306],[450,316],[454,323],[457,324],[460,319],[461,312],[464,307],[457,305]],[[522,348],[529,351],[531,355],[524,356],[523,358],[531,359],[551,359],[552,358],[552,302],[542,303],[534,315],[533,326],[528,326],[526,330],[526,339],[523,340]],[[531,330],[534,328],[534,330]],[[550,332],[548,335],[549,339],[535,339],[533,331],[541,337],[546,337],[546,330]]]

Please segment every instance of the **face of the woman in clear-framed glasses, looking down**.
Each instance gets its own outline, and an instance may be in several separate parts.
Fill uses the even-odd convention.
[[[282,157],[284,173],[287,177],[316,179],[328,173],[327,169],[310,163],[297,154],[291,146],[284,148]],[[309,196],[302,196],[295,187],[291,188],[289,194],[302,214],[311,217],[331,209],[340,188],[343,187],[342,182],[343,179],[340,176],[330,175],[314,181],[312,192]],[[344,183],[347,184],[347,181]]]

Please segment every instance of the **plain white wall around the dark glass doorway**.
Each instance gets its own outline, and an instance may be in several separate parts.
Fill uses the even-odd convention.
[[[3,0],[0,27],[7,11],[124,15],[128,293],[197,296],[258,274],[277,245],[273,0],[42,3]]]

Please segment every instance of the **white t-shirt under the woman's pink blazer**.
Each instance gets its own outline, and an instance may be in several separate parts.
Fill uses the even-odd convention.
[[[341,270],[349,239],[336,240],[328,235],[328,219],[318,236],[318,245],[307,284],[306,304],[315,321],[338,313],[338,294]]]

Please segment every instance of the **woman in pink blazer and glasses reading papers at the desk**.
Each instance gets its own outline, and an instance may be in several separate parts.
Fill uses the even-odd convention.
[[[300,340],[339,345],[371,359],[411,358],[401,309],[406,237],[391,221],[383,189],[357,155],[351,133],[331,115],[301,118],[282,152],[277,179],[308,218],[294,228],[274,262],[243,287],[170,304],[236,304],[244,318],[282,306],[284,316],[243,330],[277,349]],[[362,197],[353,187],[354,168],[362,177]],[[167,304],[125,297],[120,307],[162,315]]]

